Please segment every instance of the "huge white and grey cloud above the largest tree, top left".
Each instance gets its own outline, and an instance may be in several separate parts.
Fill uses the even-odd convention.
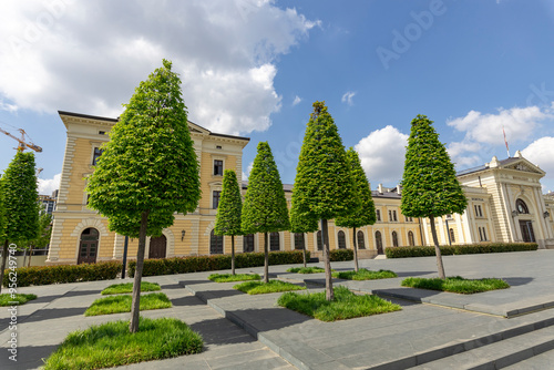
[[[264,131],[280,109],[275,60],[319,21],[274,1],[0,3],[0,99],[38,112],[117,116],[140,81],[173,61],[189,119]]]

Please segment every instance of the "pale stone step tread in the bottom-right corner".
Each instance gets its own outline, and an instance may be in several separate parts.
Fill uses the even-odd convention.
[[[410,369],[503,369],[554,349],[554,327],[522,333]]]

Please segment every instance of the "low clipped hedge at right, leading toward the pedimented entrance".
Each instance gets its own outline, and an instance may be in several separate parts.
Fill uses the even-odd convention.
[[[441,254],[448,255],[472,255],[484,253],[525,251],[536,250],[536,243],[486,243],[464,244],[453,246],[440,246]],[[429,257],[434,256],[433,246],[418,247],[388,247],[384,249],[387,258]]]

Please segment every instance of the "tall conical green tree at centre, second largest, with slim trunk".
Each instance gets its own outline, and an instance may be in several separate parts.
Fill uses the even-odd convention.
[[[299,217],[321,220],[326,298],[335,298],[329,260],[328,220],[348,215],[358,204],[353,181],[339,136],[325,102],[314,103],[293,188],[293,208]]]

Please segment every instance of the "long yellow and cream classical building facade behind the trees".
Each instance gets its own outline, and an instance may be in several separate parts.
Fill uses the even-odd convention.
[[[58,204],[48,256],[48,264],[82,264],[122,259],[125,237],[107,228],[107,219],[88,208],[86,177],[102,155],[101,145],[116,119],[59,112],[66,127],[65,156],[62,167]],[[230,253],[230,237],[214,235],[215,216],[222,191],[224,169],[234,169],[242,181],[243,148],[249,138],[212,133],[188,122],[191,137],[199,162],[202,198],[194,213],[175,215],[173,226],[163,235],[146,240],[146,258]],[[554,248],[554,196],[541,194],[540,179],[544,172],[519,153],[513,158],[493,158],[484,166],[459,174],[468,197],[463,215],[437,218],[442,244],[478,241],[537,241],[543,248]],[[243,194],[247,182],[243,182]],[[293,186],[284,185],[290,207]],[[392,246],[430,245],[427,219],[406,217],[400,210],[401,187],[379,185],[372,192],[377,222],[351,229],[329,223],[331,249],[352,248],[356,237],[361,258],[383,254]],[[136,255],[137,239],[131,239],[129,256]],[[306,246],[315,256],[321,255],[321,233],[269,235],[270,250],[294,250]],[[236,238],[236,249],[261,251],[264,235]]]

